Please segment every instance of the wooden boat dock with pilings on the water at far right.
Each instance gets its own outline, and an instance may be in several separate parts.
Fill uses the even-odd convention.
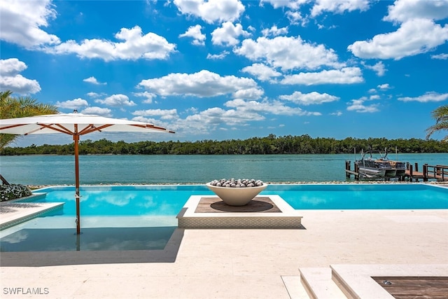
[[[351,169],[351,161],[345,161],[345,175],[347,179],[351,179],[353,175],[356,180],[369,180],[369,178],[363,176],[359,173],[358,165],[354,164],[354,169]],[[398,179],[398,181],[448,181],[448,165],[428,165],[423,164],[422,171],[419,172],[418,163],[414,163],[414,165],[409,162],[406,163],[406,172],[404,176],[393,176],[386,177],[383,176],[381,178],[374,178],[375,180],[390,180],[390,179]]]

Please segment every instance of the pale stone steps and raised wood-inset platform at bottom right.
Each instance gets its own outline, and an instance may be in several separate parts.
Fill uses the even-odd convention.
[[[299,270],[300,281],[309,298],[313,299],[393,299],[393,295],[388,291],[402,291],[399,289],[400,285],[397,284],[386,290],[374,277],[380,280],[387,280],[390,277],[391,281],[396,277],[407,277],[407,279],[425,277],[430,281],[444,281],[448,277],[448,264],[342,264],[330,265],[330,267],[300,267]],[[286,288],[289,290],[288,285]],[[415,285],[412,288],[406,285],[405,288],[409,295],[414,296],[412,298],[431,292],[440,293],[438,288],[432,290],[428,288],[428,284]],[[443,291],[444,288],[442,288]],[[291,296],[291,298],[300,297]],[[305,297],[302,296],[302,298]]]

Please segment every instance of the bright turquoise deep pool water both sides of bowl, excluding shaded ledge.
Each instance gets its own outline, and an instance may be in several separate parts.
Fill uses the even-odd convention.
[[[76,213],[73,187],[37,190],[38,201],[66,202]],[[202,185],[86,186],[80,188],[84,216],[176,216],[190,195],[212,195]],[[272,184],[261,194],[280,195],[294,209],[448,209],[448,188],[428,184]]]

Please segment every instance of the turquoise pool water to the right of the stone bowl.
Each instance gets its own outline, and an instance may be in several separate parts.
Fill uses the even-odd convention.
[[[294,209],[448,209],[448,188],[428,184],[269,186]]]

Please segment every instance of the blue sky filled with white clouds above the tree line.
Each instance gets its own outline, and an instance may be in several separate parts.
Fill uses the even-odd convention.
[[[448,0],[2,0],[0,26],[1,91],[176,132],[85,139],[424,139],[448,104]]]

